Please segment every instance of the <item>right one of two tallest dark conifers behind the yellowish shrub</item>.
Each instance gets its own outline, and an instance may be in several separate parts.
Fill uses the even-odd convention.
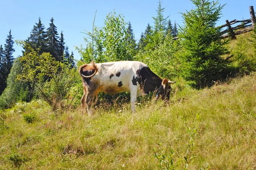
[[[53,17],[51,18],[51,23],[49,23],[49,28],[47,28],[47,46],[48,46],[48,52],[52,55],[53,58],[56,59],[56,61],[61,61],[61,56],[59,55],[59,37],[57,32],[57,27],[53,23]]]

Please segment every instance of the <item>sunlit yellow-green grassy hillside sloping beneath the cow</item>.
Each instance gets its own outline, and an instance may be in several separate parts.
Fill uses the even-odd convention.
[[[256,168],[256,74],[200,91],[176,84],[169,104],[141,103],[135,113],[128,103],[98,107],[93,117],[18,103],[0,112],[0,169],[154,170],[161,160],[174,169]]]

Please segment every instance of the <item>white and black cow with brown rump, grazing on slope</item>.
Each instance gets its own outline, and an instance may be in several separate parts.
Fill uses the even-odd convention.
[[[107,63],[84,64],[80,66],[84,94],[81,98],[81,107],[87,107],[88,115],[92,115],[94,96],[99,92],[115,94],[119,92],[131,93],[131,111],[135,112],[134,103],[137,96],[155,92],[157,98],[170,98],[170,84],[176,81],[158,77],[148,66],[139,61],[116,61]]]

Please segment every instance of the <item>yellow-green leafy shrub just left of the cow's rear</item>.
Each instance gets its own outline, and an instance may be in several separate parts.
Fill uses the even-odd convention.
[[[71,96],[73,86],[79,84],[79,74],[75,68],[66,63],[56,61],[49,53],[32,49],[29,44],[20,41],[29,52],[24,52],[20,57],[23,70],[17,76],[18,80],[32,83],[38,90],[41,98],[46,101],[52,110],[63,112],[69,109],[74,96]]]

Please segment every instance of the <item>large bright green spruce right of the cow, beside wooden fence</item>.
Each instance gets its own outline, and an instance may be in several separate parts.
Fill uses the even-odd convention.
[[[196,87],[210,86],[218,79],[226,78],[229,71],[227,41],[221,40],[219,27],[224,6],[218,1],[191,0],[195,9],[183,14],[184,26],[181,28],[181,46],[183,47],[183,78]]]

